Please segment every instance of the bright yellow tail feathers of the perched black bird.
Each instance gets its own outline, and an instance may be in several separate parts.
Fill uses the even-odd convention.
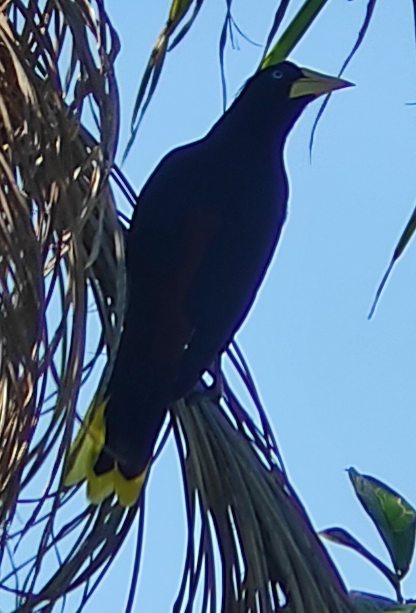
[[[81,428],[71,445],[64,476],[64,484],[75,485],[87,481],[87,497],[93,504],[99,504],[111,493],[115,493],[121,506],[131,506],[139,497],[144,484],[147,468],[133,479],[126,479],[111,452],[106,452],[106,424],[104,409],[107,400],[93,401],[83,419]],[[96,474],[94,465],[100,454],[109,459],[109,470]]]

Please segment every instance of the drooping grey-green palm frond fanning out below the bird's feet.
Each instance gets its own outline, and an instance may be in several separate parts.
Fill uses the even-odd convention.
[[[202,581],[204,613],[218,610],[218,596],[227,613],[348,613],[344,585],[287,479],[247,366],[241,354],[231,357],[260,427],[225,380],[220,399],[202,394],[174,408],[188,519],[174,612],[191,609]]]

